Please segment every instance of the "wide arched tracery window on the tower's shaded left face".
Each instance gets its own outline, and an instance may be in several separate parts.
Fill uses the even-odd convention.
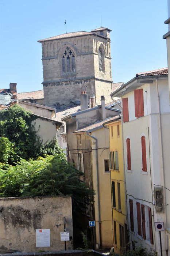
[[[66,47],[62,56],[62,72],[74,72],[76,71],[75,55],[70,47]]]

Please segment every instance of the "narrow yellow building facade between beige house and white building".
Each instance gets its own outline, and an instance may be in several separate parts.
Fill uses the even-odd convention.
[[[114,252],[128,242],[121,120],[107,123],[110,137],[110,170]]]

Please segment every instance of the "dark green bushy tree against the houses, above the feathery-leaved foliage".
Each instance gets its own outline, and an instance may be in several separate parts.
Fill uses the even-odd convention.
[[[36,117],[15,104],[0,111],[0,160],[13,163],[19,158],[34,158],[40,150],[39,137],[32,126]],[[6,138],[6,139],[5,139]]]

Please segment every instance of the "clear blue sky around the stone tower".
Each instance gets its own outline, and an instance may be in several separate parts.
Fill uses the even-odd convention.
[[[39,39],[108,27],[113,82],[167,67],[167,0],[0,0],[0,88],[43,89]]]

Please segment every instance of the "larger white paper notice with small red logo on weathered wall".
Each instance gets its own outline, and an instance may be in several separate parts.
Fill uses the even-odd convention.
[[[50,246],[50,229],[36,229],[36,247]]]

